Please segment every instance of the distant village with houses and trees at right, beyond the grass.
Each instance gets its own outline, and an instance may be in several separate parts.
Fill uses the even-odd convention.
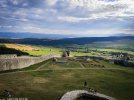
[[[72,52],[78,53],[91,53],[97,54],[98,56],[86,56],[86,59],[94,59],[94,60],[105,60],[112,64],[123,65],[127,67],[134,67],[134,56],[128,53],[122,52],[106,52],[106,51],[98,51],[98,50],[89,50],[86,49],[85,51],[80,51],[76,49],[69,49]]]

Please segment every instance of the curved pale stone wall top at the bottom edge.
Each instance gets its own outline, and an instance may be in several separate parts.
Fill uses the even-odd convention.
[[[74,91],[67,92],[62,96],[62,98],[60,100],[75,100],[76,98],[78,98],[82,94],[86,94],[86,95],[89,95],[91,97],[96,97],[96,98],[97,97],[104,98],[105,100],[106,99],[107,100],[116,100],[112,97],[109,97],[109,96],[106,96],[106,95],[103,95],[100,93],[91,93],[91,92],[88,92],[86,90],[74,90]],[[101,100],[103,100],[103,99],[101,99]]]

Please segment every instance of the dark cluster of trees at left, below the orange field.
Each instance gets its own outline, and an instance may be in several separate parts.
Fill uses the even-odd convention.
[[[29,55],[26,52],[22,52],[20,50],[16,50],[16,49],[12,49],[12,48],[6,48],[4,46],[0,47],[0,55],[2,55],[2,54],[17,54],[17,56]]]

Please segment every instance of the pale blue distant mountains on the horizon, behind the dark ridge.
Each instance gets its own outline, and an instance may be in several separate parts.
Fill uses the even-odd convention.
[[[114,34],[111,36],[134,36],[133,34]],[[29,33],[29,32],[0,32],[0,38],[8,38],[8,39],[23,39],[23,38],[46,38],[46,39],[61,39],[61,38],[76,38],[80,36],[76,35],[62,35],[62,34],[42,34],[42,33]],[[88,36],[92,37],[92,36]],[[97,36],[98,37],[98,36]]]

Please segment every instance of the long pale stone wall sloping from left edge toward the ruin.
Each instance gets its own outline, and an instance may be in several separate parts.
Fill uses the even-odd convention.
[[[60,55],[50,54],[47,56],[40,56],[40,57],[25,56],[25,57],[15,57],[9,59],[0,59],[0,71],[25,68],[53,57],[60,57]]]

